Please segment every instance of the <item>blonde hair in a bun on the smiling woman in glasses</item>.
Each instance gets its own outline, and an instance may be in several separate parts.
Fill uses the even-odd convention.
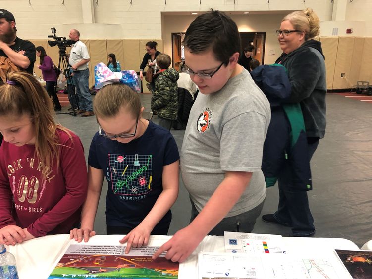
[[[305,41],[313,39],[319,36],[320,25],[319,17],[311,8],[307,8],[302,11],[294,11],[290,14],[287,14],[282,22],[289,20],[294,29],[305,31]]]

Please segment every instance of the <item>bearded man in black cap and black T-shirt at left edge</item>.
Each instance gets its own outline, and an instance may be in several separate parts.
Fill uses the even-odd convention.
[[[14,16],[4,9],[0,9],[0,56],[9,58],[19,69],[32,74],[36,60],[35,45],[17,37]]]

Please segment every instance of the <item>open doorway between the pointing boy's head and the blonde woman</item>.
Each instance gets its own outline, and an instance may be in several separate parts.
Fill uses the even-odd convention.
[[[252,57],[260,61],[260,65],[264,64],[265,58],[265,40],[266,32],[239,32],[242,40],[242,50],[248,45],[253,45]]]

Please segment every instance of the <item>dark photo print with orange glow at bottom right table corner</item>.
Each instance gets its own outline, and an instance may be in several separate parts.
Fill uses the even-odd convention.
[[[372,278],[372,251],[335,251],[352,278]]]

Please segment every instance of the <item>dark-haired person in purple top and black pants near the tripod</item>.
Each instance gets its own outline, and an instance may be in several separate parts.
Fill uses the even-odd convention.
[[[57,75],[54,70],[52,58],[47,56],[47,53],[42,46],[36,48],[36,56],[40,57],[40,65],[36,66],[41,69],[43,79],[45,80],[45,89],[47,90],[49,97],[53,98],[54,110],[60,111],[62,107],[54,89],[55,83],[57,82]]]

